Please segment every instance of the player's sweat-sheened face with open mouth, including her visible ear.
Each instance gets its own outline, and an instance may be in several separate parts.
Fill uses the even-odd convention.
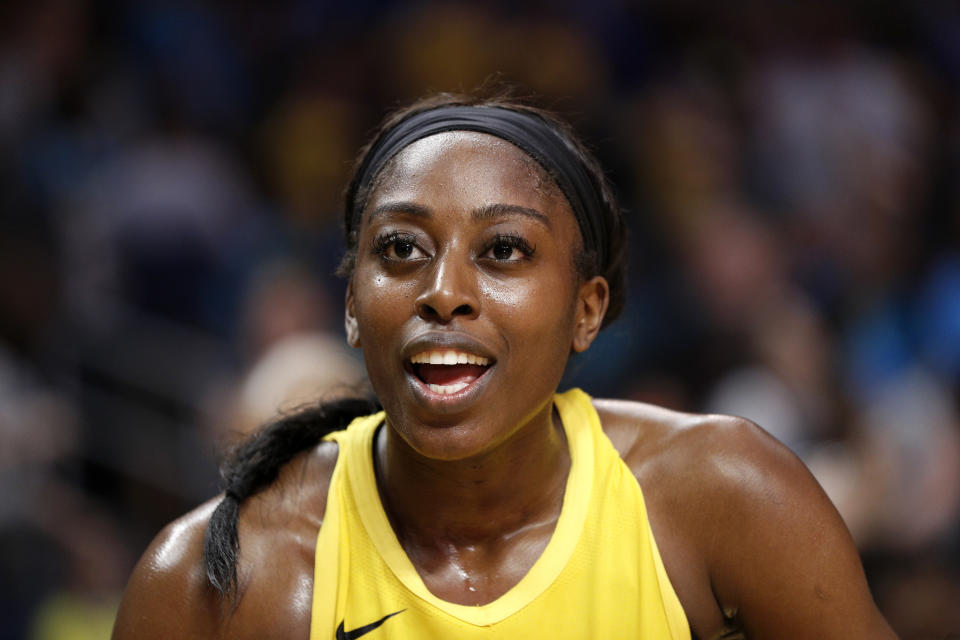
[[[395,157],[363,213],[346,324],[413,449],[462,459],[549,419],[606,309],[580,247],[562,193],[499,138],[442,133]]]

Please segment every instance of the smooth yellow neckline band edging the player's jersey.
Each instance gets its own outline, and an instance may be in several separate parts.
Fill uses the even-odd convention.
[[[411,593],[447,614],[478,626],[491,625],[513,615],[543,593],[560,575],[583,531],[593,484],[593,434],[600,419],[589,396],[579,389],[554,396],[554,405],[567,436],[570,470],[563,504],[550,540],[526,575],[496,600],[484,605],[462,605],[435,596],[417,573],[397,540],[377,490],[373,468],[373,438],[383,422],[381,412],[370,417],[362,437],[349,449],[348,476],[363,527],[398,580]]]

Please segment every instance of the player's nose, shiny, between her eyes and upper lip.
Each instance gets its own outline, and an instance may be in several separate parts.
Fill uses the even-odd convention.
[[[476,272],[469,260],[458,260],[453,252],[434,259],[424,275],[423,290],[416,299],[417,315],[431,322],[447,324],[454,318],[474,318],[480,311]]]

